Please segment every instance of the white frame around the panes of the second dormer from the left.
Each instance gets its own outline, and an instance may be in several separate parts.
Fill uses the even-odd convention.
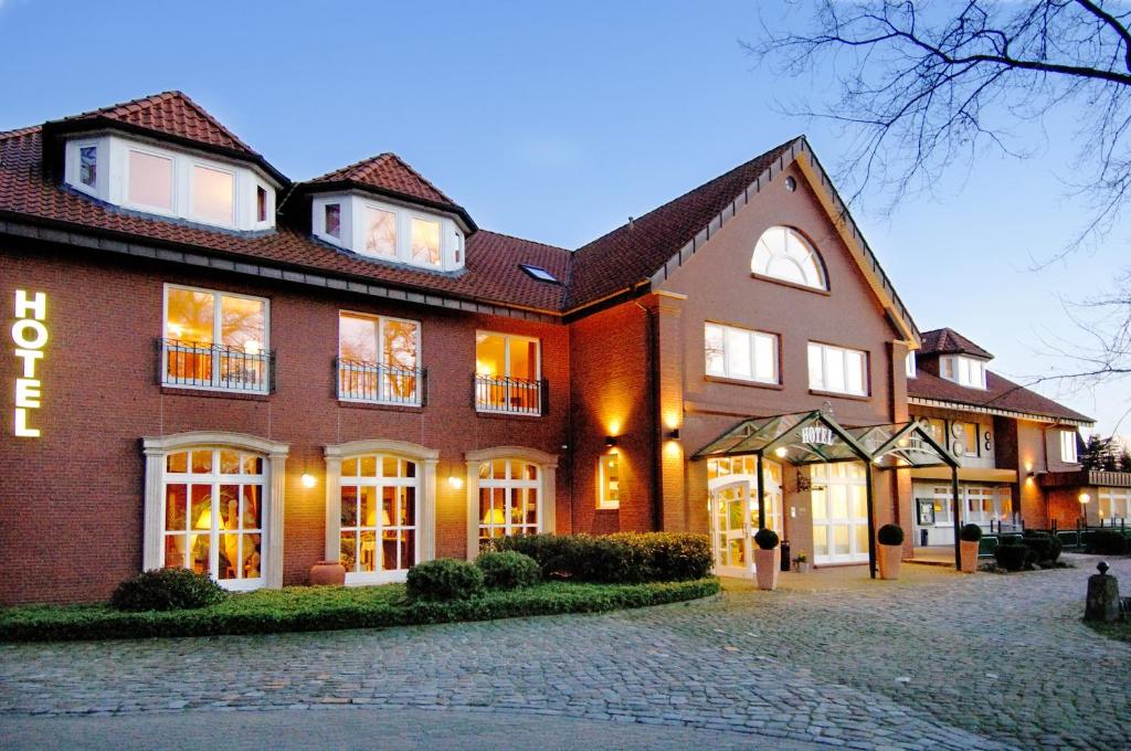
[[[326,206],[340,206],[340,232],[335,238],[326,232]],[[327,193],[314,196],[311,201],[311,231],[314,236],[357,256],[387,264],[404,264],[415,268],[433,271],[455,271],[464,268],[464,231],[457,222],[440,213],[400,204],[391,199],[377,198],[362,191]],[[396,258],[378,256],[365,251],[365,209],[389,212],[396,216],[397,253]],[[440,225],[440,264],[422,264],[413,260],[412,224],[413,219],[433,222]]]

